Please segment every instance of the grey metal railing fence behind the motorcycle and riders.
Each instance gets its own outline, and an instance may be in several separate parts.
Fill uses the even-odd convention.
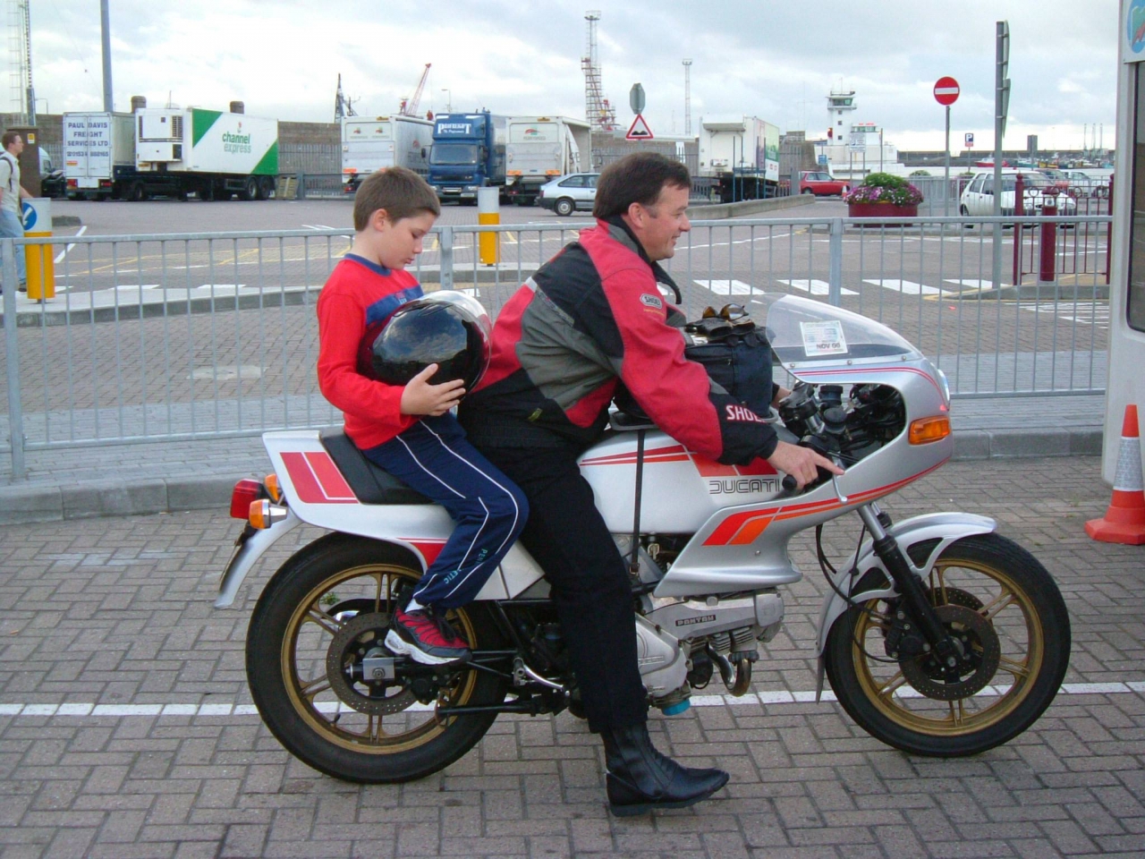
[[[1009,221],[990,218],[695,221],[664,265],[689,318],[708,305],[751,308],[760,293],[805,294],[897,330],[946,371],[955,396],[1096,393],[1111,219],[1053,220],[1072,226],[1058,230],[1053,255],[1093,270],[1013,284],[1006,230],[995,285],[993,227]],[[427,290],[474,292],[496,316],[586,223],[439,226],[411,270]],[[499,236],[497,265],[481,261],[485,233]],[[0,241],[0,451],[14,476],[29,450],[338,423],[317,389],[314,305],[349,239],[289,230]],[[55,260],[47,302],[13,287],[13,254],[26,246]]]

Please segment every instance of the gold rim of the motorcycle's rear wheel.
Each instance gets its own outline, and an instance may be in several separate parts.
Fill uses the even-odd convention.
[[[434,709],[423,709],[416,699],[412,702],[414,707],[396,716],[358,712],[337,698],[325,670],[325,648],[345,623],[324,608],[324,604],[331,601],[334,589],[352,582],[360,585],[372,583],[368,598],[373,600],[373,610],[389,614],[394,608],[393,594],[397,585],[417,577],[409,568],[385,564],[365,564],[340,570],[310,590],[287,621],[279,654],[286,695],[294,711],[323,740],[352,751],[394,755],[424,746],[440,736],[450,724],[449,718],[439,717]],[[467,616],[451,613],[450,622],[467,641],[476,640]],[[316,645],[315,638],[322,644]],[[302,648],[309,653],[308,664],[314,665],[305,677],[298,659]],[[437,703],[461,704],[473,694],[475,685],[476,672],[464,671],[443,689],[444,694],[439,696]],[[405,727],[395,731],[395,725]]]

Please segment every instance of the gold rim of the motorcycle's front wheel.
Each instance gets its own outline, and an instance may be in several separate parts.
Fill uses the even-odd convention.
[[[954,570],[961,575],[951,576]],[[979,576],[978,586],[965,586],[968,574]],[[984,577],[990,583],[988,594],[982,593]],[[1001,663],[990,684],[976,695],[957,701],[911,695],[914,689],[898,663],[877,662],[863,652],[883,655],[883,637],[890,624],[889,615],[878,609],[878,601],[872,601],[867,606],[868,612],[855,622],[851,643],[860,688],[882,716],[910,731],[931,736],[962,736],[986,730],[1010,716],[1029,695],[1037,678],[1045,655],[1044,631],[1036,622],[1037,610],[1029,594],[1010,576],[981,561],[951,559],[943,562],[940,559],[931,570],[930,586],[938,594],[947,588],[965,589],[982,601],[978,613],[995,626],[1002,645]],[[1021,641],[1019,633],[1024,635]],[[856,643],[862,643],[862,647]],[[1016,645],[1018,652],[1012,649]]]

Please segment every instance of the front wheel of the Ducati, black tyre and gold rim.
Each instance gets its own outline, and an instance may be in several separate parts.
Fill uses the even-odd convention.
[[[851,592],[886,582],[871,570]],[[962,648],[957,677],[930,654],[900,660],[895,648],[910,631],[897,601],[862,601],[835,622],[823,654],[839,703],[869,734],[916,755],[962,757],[1012,740],[1050,706],[1069,663],[1069,615],[1057,584],[997,534],[953,543],[926,584]]]

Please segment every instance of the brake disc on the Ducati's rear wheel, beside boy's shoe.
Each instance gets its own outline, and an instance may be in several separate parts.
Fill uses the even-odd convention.
[[[412,692],[401,687],[400,681],[354,680],[348,673],[354,665],[362,664],[362,660],[366,656],[377,655],[377,652],[381,651],[388,628],[388,614],[370,612],[356,615],[334,633],[326,649],[326,677],[330,679],[330,687],[340,701],[368,716],[390,716],[402,712],[417,701]],[[385,653],[389,655],[388,651]],[[370,689],[369,695],[362,693],[363,687]],[[387,691],[395,688],[401,691],[392,695],[386,694]]]

